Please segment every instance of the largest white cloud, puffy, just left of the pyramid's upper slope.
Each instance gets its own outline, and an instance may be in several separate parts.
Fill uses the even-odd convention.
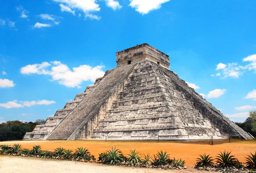
[[[65,64],[59,61],[44,62],[41,64],[27,65],[21,68],[22,74],[39,74],[39,75],[50,75],[52,81],[58,81],[59,84],[67,87],[79,87],[83,81],[94,82],[96,78],[102,77],[104,72],[102,68],[104,66],[91,67],[88,65],[80,65],[79,67],[73,67],[70,70]]]

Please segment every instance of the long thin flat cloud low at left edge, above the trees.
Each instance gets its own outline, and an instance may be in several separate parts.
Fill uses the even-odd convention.
[[[48,101],[48,100],[38,100],[38,101],[8,101],[6,103],[0,103],[0,107],[4,107],[6,109],[10,108],[19,108],[19,107],[31,107],[34,105],[49,105],[54,104],[55,101]]]

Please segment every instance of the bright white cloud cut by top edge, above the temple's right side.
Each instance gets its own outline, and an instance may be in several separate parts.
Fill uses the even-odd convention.
[[[168,1],[170,0],[130,0],[129,6],[141,14],[147,14],[152,10],[160,9],[161,5]]]

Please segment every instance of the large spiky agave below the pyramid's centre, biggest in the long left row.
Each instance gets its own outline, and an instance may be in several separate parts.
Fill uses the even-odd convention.
[[[104,163],[106,164],[120,164],[125,160],[125,156],[119,149],[113,148],[108,150],[108,156],[105,158]]]

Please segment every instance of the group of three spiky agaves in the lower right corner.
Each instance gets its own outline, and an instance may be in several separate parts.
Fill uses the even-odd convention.
[[[244,164],[249,169],[256,169],[256,152],[255,154],[250,153],[251,155],[247,155],[245,157],[246,162],[242,163],[236,159],[235,156],[231,155],[231,152],[224,151],[217,155],[215,159],[212,159],[210,155],[199,155],[197,158],[197,163],[195,164],[195,168],[199,167],[236,167],[241,168],[244,167]],[[215,161],[215,162],[214,162]]]

